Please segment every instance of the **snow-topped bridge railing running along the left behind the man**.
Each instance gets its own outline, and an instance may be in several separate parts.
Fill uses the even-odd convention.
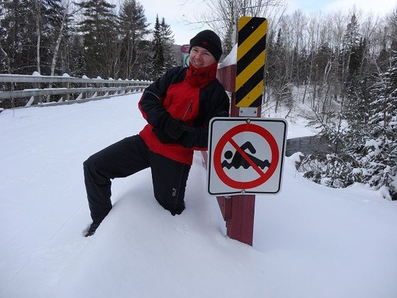
[[[11,91],[0,92],[0,103],[4,107],[37,105],[72,104],[97,99],[106,99],[128,93],[142,92],[150,81],[130,79],[89,79],[88,77],[42,76],[33,75],[0,75],[0,84],[6,88],[11,83]],[[47,88],[42,88],[47,84]],[[52,88],[52,85],[59,87]],[[60,87],[62,86],[62,87]],[[30,87],[21,89],[21,87]],[[18,101],[18,103],[16,103]],[[52,102],[51,102],[52,101]]]

